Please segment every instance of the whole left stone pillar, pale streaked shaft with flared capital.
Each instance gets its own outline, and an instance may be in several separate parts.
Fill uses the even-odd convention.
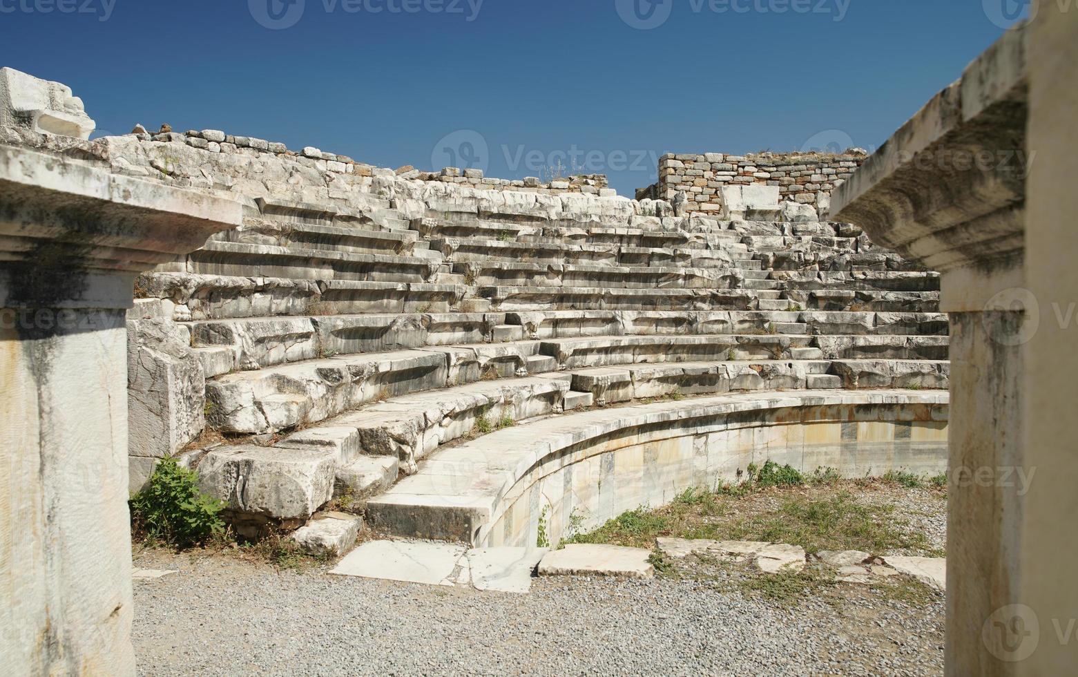
[[[232,201],[0,147],[0,664],[133,675],[126,308]]]

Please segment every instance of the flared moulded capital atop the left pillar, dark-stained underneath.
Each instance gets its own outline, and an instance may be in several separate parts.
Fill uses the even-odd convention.
[[[233,199],[0,146],[0,307],[129,307],[140,272],[241,221]]]

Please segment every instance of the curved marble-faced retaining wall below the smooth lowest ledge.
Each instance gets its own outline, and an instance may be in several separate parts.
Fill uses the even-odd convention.
[[[626,510],[669,503],[690,487],[736,482],[749,464],[768,460],[804,473],[833,468],[849,479],[946,470],[945,395],[879,403],[857,401],[871,397],[820,404],[813,399],[631,414],[614,429],[540,459],[499,501],[478,540],[484,547],[535,544],[543,520],[556,543],[570,536],[575,515],[580,528],[591,529]]]

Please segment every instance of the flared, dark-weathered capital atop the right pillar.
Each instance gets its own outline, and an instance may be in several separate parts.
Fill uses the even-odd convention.
[[[944,274],[1020,267],[1026,33],[1009,30],[896,132],[834,192],[833,218]]]

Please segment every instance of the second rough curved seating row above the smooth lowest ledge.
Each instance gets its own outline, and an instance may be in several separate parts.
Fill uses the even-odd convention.
[[[362,404],[481,378],[659,362],[946,357],[945,336],[710,334],[595,336],[430,346],[225,373],[206,383],[208,422],[260,434],[316,424]],[[794,383],[790,386],[800,387]]]

